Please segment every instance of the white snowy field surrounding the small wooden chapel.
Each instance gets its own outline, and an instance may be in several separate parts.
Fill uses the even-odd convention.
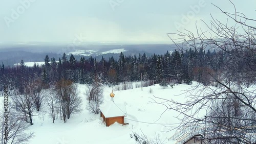
[[[99,114],[91,114],[85,109],[87,104],[85,97],[86,85],[78,84],[80,97],[83,100],[83,111],[80,114],[71,115],[67,123],[58,119],[54,124],[48,114],[34,112],[34,115],[37,116],[33,117],[34,125],[30,126],[29,130],[35,133],[30,143],[136,143],[130,137],[132,132],[139,134],[143,132],[149,138],[154,138],[157,135],[162,140],[165,139],[165,143],[174,143],[175,141],[168,141],[168,138],[175,134],[175,130],[168,131],[168,126],[177,126],[179,121],[175,116],[178,113],[166,111],[161,116],[165,107],[159,104],[152,104],[152,99],[155,99],[155,95],[155,97],[185,102],[186,94],[184,94],[184,90],[190,89],[196,84],[196,82],[192,85],[180,84],[174,86],[174,88],[165,87],[165,89],[156,84],[144,87],[143,91],[141,91],[141,88],[135,88],[134,83],[134,89],[114,90],[114,102],[126,105],[127,116],[124,122],[129,123],[129,125],[122,126],[115,123],[110,127],[105,127]],[[150,89],[152,89],[152,93],[149,92]],[[112,88],[108,86],[104,87],[104,102],[111,100],[109,95],[111,90]],[[0,99],[2,99],[2,102],[3,97]]]

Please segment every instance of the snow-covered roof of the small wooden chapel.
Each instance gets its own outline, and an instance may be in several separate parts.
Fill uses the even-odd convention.
[[[100,107],[100,111],[105,117],[126,116],[125,112],[113,101],[108,102],[106,105]]]

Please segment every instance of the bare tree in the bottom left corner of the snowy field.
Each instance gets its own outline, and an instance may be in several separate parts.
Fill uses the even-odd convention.
[[[16,111],[13,109],[10,109],[7,115],[4,115],[4,112],[0,112],[0,117],[1,117],[1,125],[0,125],[0,130],[1,130],[1,135],[0,135],[0,140],[2,144],[7,144],[7,143],[13,143],[13,144],[19,144],[19,143],[26,143],[33,137],[34,133],[28,133],[25,132],[27,131],[29,125],[24,121],[24,119],[20,119],[19,117],[16,116]],[[5,128],[6,126],[5,121],[8,119],[8,126],[7,126],[7,131],[8,131],[8,136],[7,139],[5,139]]]

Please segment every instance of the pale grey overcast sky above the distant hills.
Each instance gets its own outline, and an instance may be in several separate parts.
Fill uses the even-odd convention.
[[[227,1],[209,0],[0,0],[0,42],[169,43],[166,33],[195,30],[195,21],[226,17],[211,5],[233,12]],[[27,2],[22,4],[22,2]],[[29,3],[28,3],[29,2]],[[199,4],[200,3],[200,4]],[[234,1],[238,11],[256,19],[255,0]],[[200,7],[199,11],[193,8]],[[24,11],[25,10],[25,11]],[[189,22],[182,22],[188,12]],[[200,25],[200,23],[199,23]]]

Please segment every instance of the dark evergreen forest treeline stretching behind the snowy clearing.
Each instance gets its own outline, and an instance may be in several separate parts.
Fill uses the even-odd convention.
[[[45,57],[45,64],[33,67],[20,64],[5,68],[4,63],[0,69],[0,84],[9,85],[23,93],[24,86],[33,80],[40,80],[45,88],[62,79],[71,80],[74,83],[92,84],[97,78],[102,84],[109,86],[120,82],[151,80],[156,83],[186,83],[197,81],[203,84],[213,84],[214,80],[222,73],[222,65],[228,60],[228,55],[203,49],[188,49],[186,51],[166,52],[164,55],[139,54],[137,57],[125,56],[120,53],[119,59],[113,57],[108,60],[97,61],[93,57],[75,59],[69,58],[63,53],[62,57]]]

